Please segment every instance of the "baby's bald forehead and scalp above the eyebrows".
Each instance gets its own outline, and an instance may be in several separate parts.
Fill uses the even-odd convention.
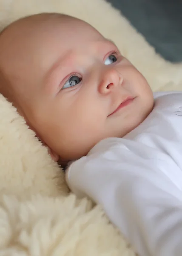
[[[34,16],[11,24],[0,37],[0,66],[7,74],[38,79],[64,54],[76,45],[81,49],[91,41],[104,38],[92,26],[73,17]],[[23,70],[23,72],[22,72]],[[33,81],[32,81],[33,82]]]

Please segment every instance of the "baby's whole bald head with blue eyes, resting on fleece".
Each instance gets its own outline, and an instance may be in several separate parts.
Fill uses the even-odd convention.
[[[125,136],[153,108],[142,74],[82,20],[60,14],[18,20],[0,35],[0,56],[0,92],[63,160]]]

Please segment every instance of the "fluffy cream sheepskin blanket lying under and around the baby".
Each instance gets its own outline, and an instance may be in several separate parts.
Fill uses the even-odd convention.
[[[104,0],[0,0],[0,29],[39,12],[86,20],[145,75],[153,90],[181,90],[182,64],[171,64]],[[53,163],[16,109],[0,95],[0,256],[135,255],[102,209],[68,194]]]

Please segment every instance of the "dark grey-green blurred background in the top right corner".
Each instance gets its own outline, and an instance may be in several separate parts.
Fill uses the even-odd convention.
[[[182,61],[182,0],[108,0],[165,59]]]

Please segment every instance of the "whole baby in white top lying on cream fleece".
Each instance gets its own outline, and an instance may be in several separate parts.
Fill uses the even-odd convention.
[[[68,186],[101,204],[139,255],[181,255],[182,93],[153,95],[112,41],[60,14],[3,30],[0,92],[55,161],[78,159]]]

